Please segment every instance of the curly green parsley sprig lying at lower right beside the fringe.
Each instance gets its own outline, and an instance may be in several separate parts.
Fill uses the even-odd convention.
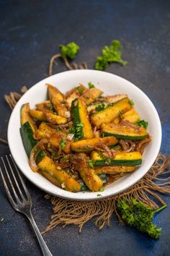
[[[161,235],[161,228],[157,228],[153,224],[153,215],[158,211],[166,208],[167,205],[163,205],[158,210],[144,205],[143,202],[137,202],[134,198],[127,202],[125,197],[118,202],[117,209],[120,211],[122,220],[130,226],[135,227],[138,231],[146,233],[154,239],[158,239]]]

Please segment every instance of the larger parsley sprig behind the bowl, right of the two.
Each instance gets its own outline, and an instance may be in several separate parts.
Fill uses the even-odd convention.
[[[102,54],[97,57],[94,64],[95,69],[104,70],[111,62],[118,62],[122,65],[126,65],[127,62],[121,59],[122,44],[119,40],[112,40],[111,46],[104,46]]]

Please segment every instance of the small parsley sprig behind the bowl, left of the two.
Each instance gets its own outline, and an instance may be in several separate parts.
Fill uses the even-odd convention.
[[[79,51],[79,46],[74,43],[68,43],[66,46],[64,46],[63,44],[60,45],[61,48],[61,56],[63,58],[70,58],[70,59],[74,59],[77,52]]]

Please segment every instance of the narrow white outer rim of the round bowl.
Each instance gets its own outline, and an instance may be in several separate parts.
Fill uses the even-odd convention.
[[[91,73],[102,73],[102,74],[108,74],[108,75],[112,75],[113,77],[117,77],[121,80],[124,80],[125,82],[128,82],[130,83],[130,85],[137,89],[138,92],[140,94],[142,94],[144,96],[144,98],[147,99],[147,101],[150,103],[150,106],[152,108],[152,111],[154,112],[154,115],[156,117],[156,121],[157,121],[157,125],[158,127],[156,127],[156,129],[158,130],[158,142],[157,142],[157,147],[156,147],[156,150],[151,158],[151,161],[150,161],[150,164],[148,165],[148,170],[151,168],[151,166],[153,165],[154,161],[156,160],[156,157],[158,155],[158,152],[161,148],[161,138],[162,138],[162,131],[161,131],[161,121],[159,119],[159,116],[158,116],[158,112],[156,111],[156,108],[155,106],[153,105],[152,101],[150,100],[150,98],[148,98],[148,96],[146,95],[146,93],[143,92],[143,90],[141,90],[140,88],[138,88],[138,86],[134,85],[133,82],[130,82],[129,80],[126,80],[125,78],[123,77],[120,77],[118,76],[117,74],[112,74],[112,73],[109,73],[109,72],[104,72],[104,71],[99,71],[99,70],[94,70],[94,69],[78,69],[78,70],[68,70],[68,71],[64,71],[64,72],[60,72],[58,74],[53,74],[52,76],[50,77],[46,77],[45,79],[43,80],[40,80],[39,82],[36,82],[35,85],[32,85],[32,87],[27,90],[26,93],[24,93],[24,95],[27,95],[28,93],[32,92],[32,90],[35,89],[35,87],[37,86],[40,86],[40,84],[42,84],[42,82],[45,84],[49,79],[53,78],[53,77],[59,77],[59,76],[62,76],[63,74],[73,74],[73,72],[76,74],[76,73],[85,73],[85,72],[91,72]],[[22,97],[24,97],[24,95]],[[54,195],[54,196],[57,196],[57,197],[61,197],[61,198],[65,198],[65,199],[68,199],[68,200],[81,200],[81,201],[87,201],[87,200],[101,200],[101,199],[104,199],[104,198],[107,198],[107,197],[112,197],[112,196],[115,196],[117,194],[120,194],[121,192],[129,189],[130,187],[132,187],[135,183],[138,182],[138,180],[140,180],[147,172],[148,170],[145,172],[145,173],[142,173],[142,175],[138,175],[138,178],[136,179],[133,179],[133,182],[131,182],[130,184],[128,184],[127,186],[123,187],[123,188],[120,188],[117,190],[117,192],[113,192],[113,193],[110,193],[109,195],[102,195],[102,197],[98,197],[97,194],[101,193],[101,192],[90,192],[91,194],[91,197],[86,197],[86,192],[79,194],[78,193],[73,193],[73,192],[67,192],[68,195],[62,195],[62,193],[60,195],[54,193],[53,191],[49,191],[49,189],[47,188],[43,188],[41,187],[38,183],[32,181],[32,179],[30,179],[30,177],[27,176],[27,174],[22,170],[22,167],[19,166],[19,162],[17,161],[17,157],[14,153],[14,149],[12,148],[12,143],[11,143],[11,129],[12,129],[12,120],[15,116],[15,111],[16,109],[18,108],[18,106],[20,105],[20,102],[22,101],[22,98],[19,99],[19,101],[17,102],[16,106],[14,106],[14,109],[12,111],[12,114],[10,116],[10,119],[9,119],[9,124],[8,124],[8,129],[7,129],[7,138],[8,138],[8,142],[9,142],[9,149],[11,151],[11,154],[12,154],[12,157],[14,158],[14,161],[15,163],[17,163],[17,166],[19,167],[19,170],[22,171],[22,174],[24,174],[24,176],[27,177],[27,179],[30,180],[30,182],[32,182],[32,184],[35,184],[36,187],[40,188],[41,190],[45,191],[45,192],[48,192],[50,195]],[[40,175],[40,174],[39,174]],[[45,179],[45,178],[44,178]],[[63,190],[62,191],[66,192],[66,190]],[[64,193],[65,194],[65,193]],[[71,194],[71,195],[69,195]],[[75,195],[81,195],[81,197],[75,197]]]

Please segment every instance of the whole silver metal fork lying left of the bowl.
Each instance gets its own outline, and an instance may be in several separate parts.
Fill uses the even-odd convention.
[[[50,250],[48,249],[47,245],[45,244],[45,241],[42,238],[42,235],[40,234],[39,229],[37,228],[35,220],[32,217],[32,213],[31,213],[32,198],[30,196],[30,193],[28,192],[28,189],[27,189],[26,185],[24,184],[22,176],[20,176],[20,174],[19,174],[18,168],[17,168],[16,164],[14,163],[12,155],[9,154],[9,157],[6,155],[6,163],[4,161],[4,158],[2,158],[2,157],[1,157],[1,161],[2,161],[2,163],[4,165],[4,169],[6,171],[6,176],[9,179],[9,184],[11,185],[14,197],[12,197],[12,194],[11,194],[11,192],[9,190],[8,185],[6,184],[6,180],[4,178],[4,174],[3,174],[2,170],[1,170],[1,167],[0,167],[2,181],[4,183],[4,188],[6,190],[6,194],[7,194],[8,198],[9,198],[9,202],[11,202],[12,207],[14,208],[14,210],[17,210],[19,213],[23,213],[29,219],[30,223],[32,224],[32,228],[34,229],[35,234],[37,236],[37,239],[38,239],[38,242],[40,244],[40,247],[42,249],[42,255],[44,255],[44,256],[53,256],[50,253]],[[14,171],[12,169],[12,163],[14,165],[15,170],[17,171],[17,175],[14,174]],[[8,166],[8,168],[7,168],[7,166]],[[12,183],[12,179],[9,176],[9,171],[8,170],[10,170],[11,173],[12,173],[11,176],[13,176],[14,184]],[[17,182],[17,176],[19,177],[18,180],[20,180],[20,183],[22,184],[22,186],[20,186],[19,183]],[[17,187],[18,192],[15,189],[14,185],[15,185],[15,187]],[[22,192],[23,190],[24,190],[24,194],[25,195]]]

